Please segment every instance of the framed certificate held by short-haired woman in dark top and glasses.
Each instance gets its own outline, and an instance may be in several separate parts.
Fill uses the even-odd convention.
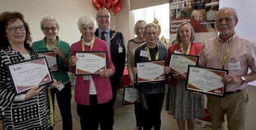
[[[165,80],[165,61],[137,62],[137,83]]]

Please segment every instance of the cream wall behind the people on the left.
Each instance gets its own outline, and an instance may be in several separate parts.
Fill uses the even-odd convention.
[[[116,15],[111,11],[111,28],[123,32],[125,42],[129,36],[129,1],[120,0],[123,7]],[[59,36],[70,44],[81,38],[78,30],[78,18],[84,15],[96,17],[97,10],[93,8],[92,0],[0,0],[0,13],[19,11],[24,14],[25,21],[30,25],[33,42],[41,40],[40,29],[42,17],[54,16],[60,24]]]

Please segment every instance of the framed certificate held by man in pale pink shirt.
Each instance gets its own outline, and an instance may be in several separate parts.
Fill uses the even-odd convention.
[[[228,70],[188,65],[185,89],[224,97],[226,85],[221,79],[225,75],[228,75]]]

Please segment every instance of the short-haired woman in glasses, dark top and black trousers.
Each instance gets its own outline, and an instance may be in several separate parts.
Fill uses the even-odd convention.
[[[157,43],[158,40],[158,26],[156,24],[150,23],[144,26],[144,38],[146,43],[138,47],[134,53],[134,75],[138,73],[138,62],[146,61],[161,61],[166,60],[167,50],[163,46]],[[164,63],[163,63],[164,64]],[[136,67],[137,66],[137,67]],[[143,65],[142,65],[143,66]],[[164,65],[163,65],[164,68]],[[163,71],[162,68],[162,71]],[[160,74],[162,75],[162,74]],[[164,75],[164,71],[163,71]],[[137,76],[138,77],[138,76]],[[137,78],[138,79],[138,78]],[[138,87],[141,102],[143,105],[143,129],[150,130],[152,127],[155,130],[160,130],[161,128],[161,111],[163,106],[163,97],[165,91],[164,80],[151,81],[144,83],[135,84]]]

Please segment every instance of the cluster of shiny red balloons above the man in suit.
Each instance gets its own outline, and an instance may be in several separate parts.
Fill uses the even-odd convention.
[[[120,0],[93,0],[93,7],[97,10],[100,8],[111,9],[113,13],[118,13],[122,4],[119,2]]]

